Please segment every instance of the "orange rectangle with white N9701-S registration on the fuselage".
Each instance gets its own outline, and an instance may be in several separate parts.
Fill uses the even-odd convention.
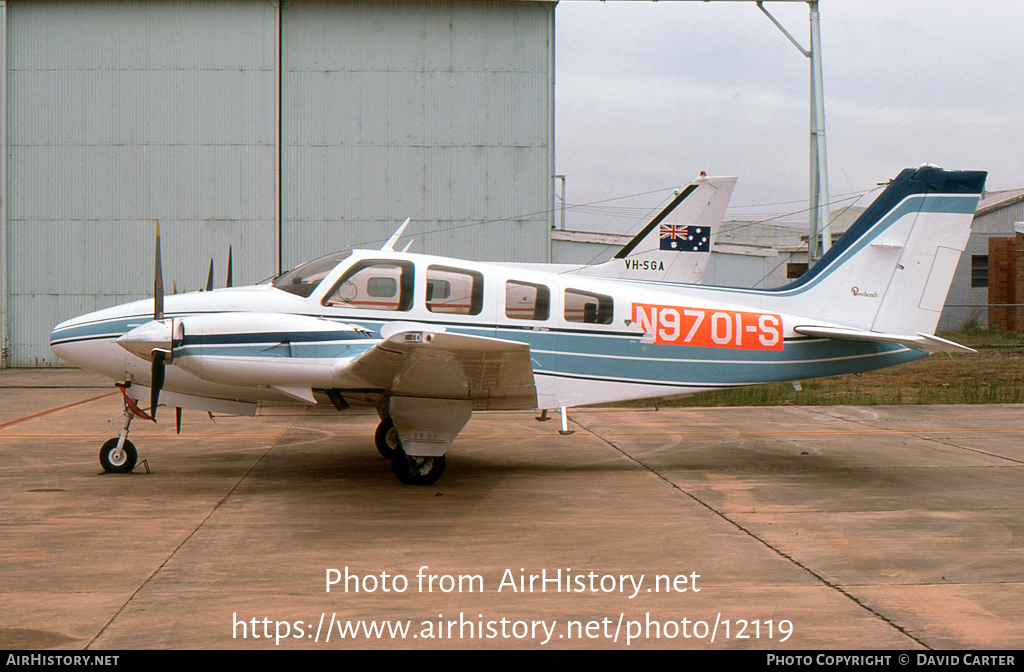
[[[782,349],[782,319],[773,312],[634,303],[633,322],[664,345]]]

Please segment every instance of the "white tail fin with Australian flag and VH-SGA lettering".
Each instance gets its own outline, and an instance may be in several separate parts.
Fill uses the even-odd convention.
[[[613,259],[584,266],[581,276],[698,283],[735,177],[699,177],[680,192]]]

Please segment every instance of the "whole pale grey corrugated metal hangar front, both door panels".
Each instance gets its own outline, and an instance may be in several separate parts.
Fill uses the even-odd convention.
[[[57,322],[380,245],[549,255],[555,2],[0,0],[0,366]],[[490,222],[490,223],[482,223]]]

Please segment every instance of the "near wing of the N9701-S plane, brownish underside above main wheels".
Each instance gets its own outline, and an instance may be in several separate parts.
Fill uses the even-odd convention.
[[[474,411],[537,408],[529,345],[431,331],[391,334],[342,373],[394,396],[469,400]]]

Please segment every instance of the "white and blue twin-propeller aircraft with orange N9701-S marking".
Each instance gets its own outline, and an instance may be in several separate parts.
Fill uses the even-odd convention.
[[[261,285],[164,297],[158,228],[155,298],[61,323],[51,347],[125,394],[124,428],[100,452],[108,471],[134,468],[127,435],[151,417],[136,404],[146,396],[153,416],[160,403],[238,415],[268,402],[369,405],[395,474],[426,485],[473,411],[561,408],[564,430],[569,406],[970,351],[934,331],[985,175],[902,171],[804,276],[768,290],[395,252],[399,229],[381,250]],[[699,252],[697,227],[663,223],[656,250],[634,247]],[[615,262],[625,269],[629,252]]]

